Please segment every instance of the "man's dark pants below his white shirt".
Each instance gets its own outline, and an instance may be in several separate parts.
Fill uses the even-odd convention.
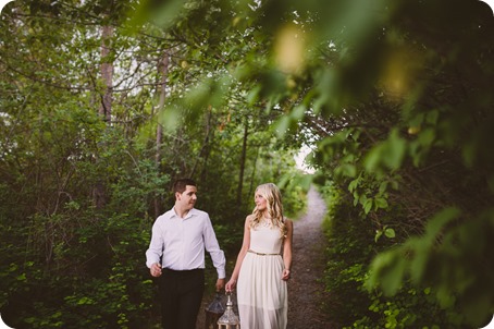
[[[162,269],[159,279],[163,329],[195,329],[202,294],[205,270]]]

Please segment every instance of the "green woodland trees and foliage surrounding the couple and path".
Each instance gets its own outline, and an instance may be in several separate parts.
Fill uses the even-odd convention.
[[[321,307],[342,327],[489,322],[487,4],[16,0],[0,24],[9,326],[156,327],[144,253],[182,176],[230,267],[258,184],[279,184],[289,217],[317,186],[333,296]],[[304,146],[313,174],[295,167]]]

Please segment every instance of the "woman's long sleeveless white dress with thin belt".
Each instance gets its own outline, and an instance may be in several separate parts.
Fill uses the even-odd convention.
[[[285,329],[288,294],[280,255],[283,237],[277,227],[250,229],[250,251],[242,263],[237,304],[242,329]],[[259,255],[264,254],[264,255]]]

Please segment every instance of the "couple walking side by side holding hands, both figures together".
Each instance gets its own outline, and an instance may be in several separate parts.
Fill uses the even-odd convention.
[[[205,252],[218,272],[217,291],[237,290],[243,329],[285,329],[291,276],[293,222],[283,217],[280,190],[272,183],[255,192],[252,214],[230,281],[225,256],[209,215],[196,209],[197,186],[181,179],[173,185],[175,205],[152,227],[146,265],[158,278],[162,328],[195,329],[205,291]]]

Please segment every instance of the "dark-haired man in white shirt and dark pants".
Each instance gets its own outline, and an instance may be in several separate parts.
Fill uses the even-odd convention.
[[[181,179],[173,184],[175,206],[152,226],[146,266],[159,277],[162,327],[195,329],[205,291],[205,249],[217,268],[217,291],[225,284],[225,257],[209,215],[194,208],[197,186]]]

